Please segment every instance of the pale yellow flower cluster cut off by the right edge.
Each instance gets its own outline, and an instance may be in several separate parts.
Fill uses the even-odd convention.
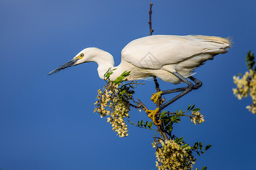
[[[240,76],[233,76],[234,84],[237,88],[233,88],[234,95],[241,100],[248,95],[251,96],[253,103],[248,105],[246,108],[250,112],[256,113],[256,73],[254,70],[246,71],[245,75],[241,78]]]

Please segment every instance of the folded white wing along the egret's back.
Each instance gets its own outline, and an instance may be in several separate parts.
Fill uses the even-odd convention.
[[[212,36],[154,35],[131,41],[122,50],[122,59],[148,69],[160,69],[201,53],[225,53],[227,39]]]

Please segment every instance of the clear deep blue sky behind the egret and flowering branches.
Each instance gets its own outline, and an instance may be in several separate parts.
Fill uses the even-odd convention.
[[[245,73],[248,50],[256,53],[256,2],[246,1],[15,1],[0,2],[0,168],[5,169],[156,169],[154,131],[129,125],[119,138],[105,118],[93,113],[97,64],[86,63],[52,76],[49,71],[87,47],[104,49],[116,65],[122,48],[147,36],[148,8],[153,2],[154,35],[232,37],[228,53],[196,70],[203,82],[167,111],[201,108],[205,122],[184,119],[174,133],[212,148],[195,167],[254,169],[256,115],[245,108],[250,99],[233,96],[233,75]],[[159,81],[160,88],[176,88]],[[137,87],[135,99],[154,108],[154,83]],[[166,98],[171,95],[166,96]],[[147,119],[130,112],[133,121]]]

